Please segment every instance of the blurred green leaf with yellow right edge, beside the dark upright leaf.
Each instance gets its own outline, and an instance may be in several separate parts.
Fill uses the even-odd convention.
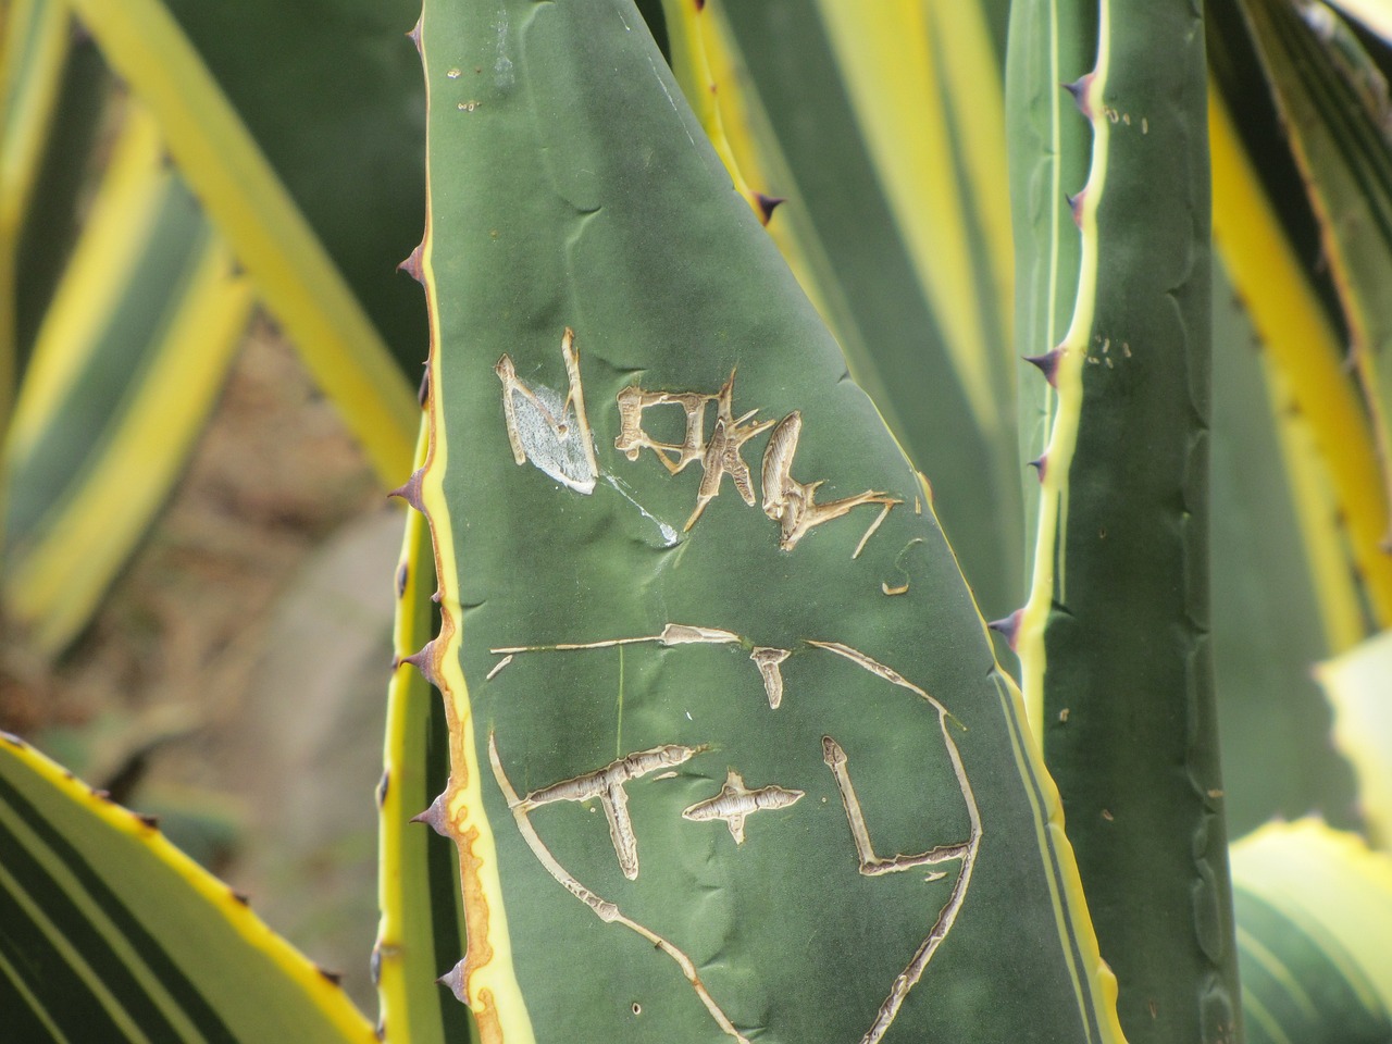
[[[1214,672],[1228,827],[1310,813],[1356,824],[1311,667],[1363,633],[1338,511],[1308,422],[1222,267],[1214,278]]]

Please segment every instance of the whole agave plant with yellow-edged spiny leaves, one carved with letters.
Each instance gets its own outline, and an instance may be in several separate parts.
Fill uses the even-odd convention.
[[[1385,45],[1286,0],[426,0],[420,106],[415,11],[253,7],[6,10],[6,599],[71,640],[259,295],[413,508],[379,1037],[1392,1036],[1386,856],[1228,849],[1386,838]],[[110,433],[210,327],[103,541],[155,452]],[[0,778],[18,1038],[372,1037],[152,823],[15,738]]]

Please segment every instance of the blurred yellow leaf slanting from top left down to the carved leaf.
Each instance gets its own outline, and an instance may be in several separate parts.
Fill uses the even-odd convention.
[[[198,52],[160,0],[71,0],[315,380],[384,479],[409,466],[409,383]],[[344,75],[349,75],[345,71]]]

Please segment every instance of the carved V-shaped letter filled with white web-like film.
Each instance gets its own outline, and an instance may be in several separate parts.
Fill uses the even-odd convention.
[[[585,416],[580,356],[571,327],[565,327],[561,337],[561,358],[568,381],[564,400],[551,388],[526,384],[507,354],[493,372],[503,381],[503,418],[512,459],[518,465],[532,461],[562,486],[589,496],[600,468],[594,459],[594,436]]]

